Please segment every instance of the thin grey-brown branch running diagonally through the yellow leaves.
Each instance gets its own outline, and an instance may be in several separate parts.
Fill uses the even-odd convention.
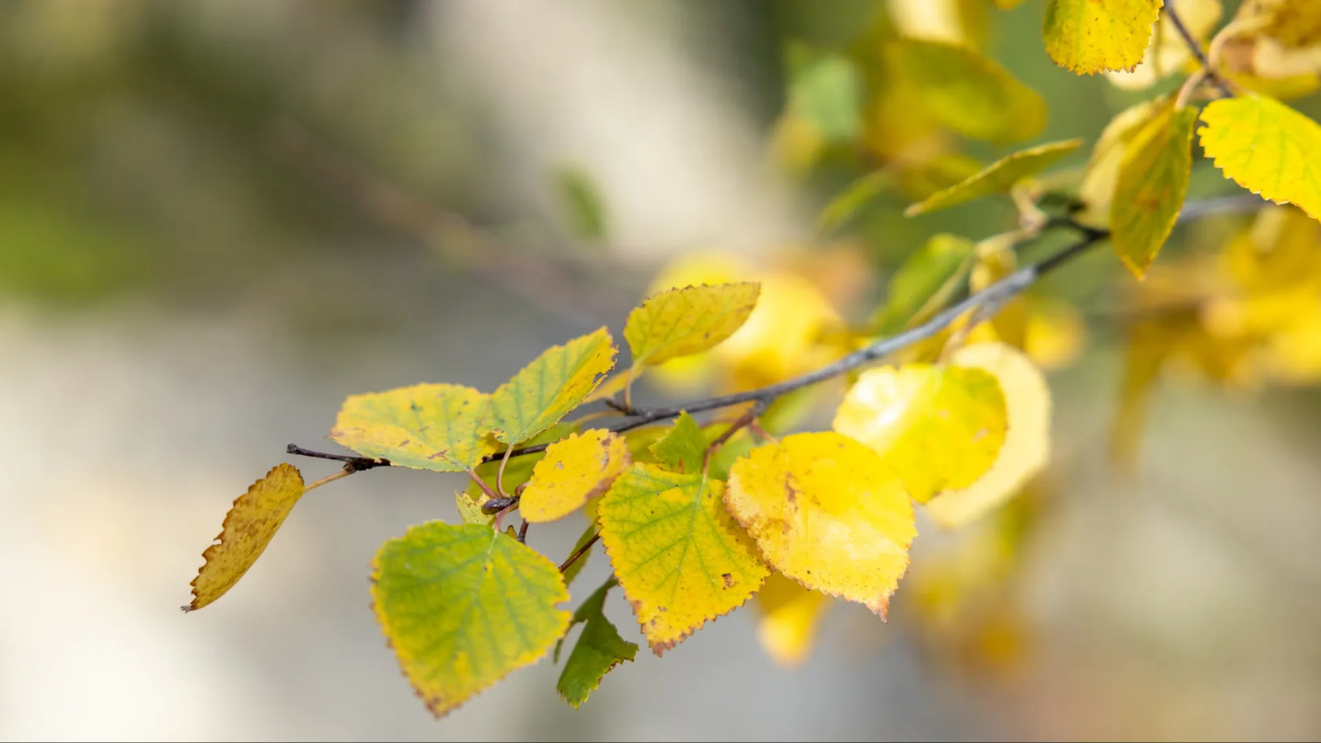
[[[1205,217],[1207,214],[1234,214],[1242,212],[1254,212],[1266,205],[1259,196],[1243,193],[1209,198],[1205,201],[1193,201],[1185,204],[1178,213],[1178,223],[1184,223],[1192,219]],[[1037,263],[1024,266],[1013,274],[1009,274],[1004,279],[991,284],[989,287],[968,295],[967,297],[951,304],[943,311],[934,315],[926,323],[909,328],[901,333],[880,338],[873,344],[855,350],[853,353],[822,366],[815,372],[808,372],[801,377],[794,377],[793,379],[786,379],[774,385],[768,385],[756,390],[748,390],[742,393],[733,393],[728,395],[719,395],[705,399],[697,399],[676,406],[666,407],[651,407],[651,409],[633,409],[634,414],[618,420],[610,426],[605,426],[606,430],[616,434],[624,431],[631,431],[633,428],[639,428],[649,423],[657,423],[659,420],[668,420],[671,418],[678,418],[680,412],[705,412],[708,410],[719,410],[721,407],[731,407],[734,405],[741,405],[745,402],[756,402],[760,406],[766,406],[774,402],[777,398],[786,395],[791,391],[799,390],[815,385],[818,382],[824,382],[834,377],[839,377],[848,372],[852,372],[860,366],[878,361],[897,350],[902,350],[913,344],[927,340],[941,331],[950,327],[955,320],[962,317],[966,312],[972,309],[979,309],[982,307],[993,307],[1003,304],[1015,295],[1022,292],[1032,284],[1034,284],[1042,276],[1050,274],[1052,271],[1059,268],[1061,266],[1074,260],[1091,247],[1106,241],[1110,237],[1110,230],[1102,230],[1096,227],[1089,227],[1074,221],[1070,217],[1058,217],[1046,223],[1046,227],[1066,227],[1081,233],[1081,238],[1074,243],[1058,250],[1057,253],[1048,255],[1046,258],[1038,260]],[[523,456],[530,453],[536,453],[546,451],[548,444],[538,444],[532,447],[515,448],[513,451],[501,451],[493,455],[487,455],[482,461],[495,461],[506,456]],[[371,467],[384,467],[388,463],[386,460],[371,460],[366,457],[351,457],[343,455],[328,455],[321,452],[312,452],[293,444],[289,444],[289,453],[299,453],[304,456],[320,456],[322,459],[334,459],[339,461],[363,461],[369,463],[362,469],[370,469]],[[509,498],[513,500],[513,498]]]

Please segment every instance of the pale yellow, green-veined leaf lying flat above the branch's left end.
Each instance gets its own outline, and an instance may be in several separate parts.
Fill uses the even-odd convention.
[[[350,395],[330,438],[399,467],[464,472],[495,451],[489,395],[462,385],[413,385]]]

